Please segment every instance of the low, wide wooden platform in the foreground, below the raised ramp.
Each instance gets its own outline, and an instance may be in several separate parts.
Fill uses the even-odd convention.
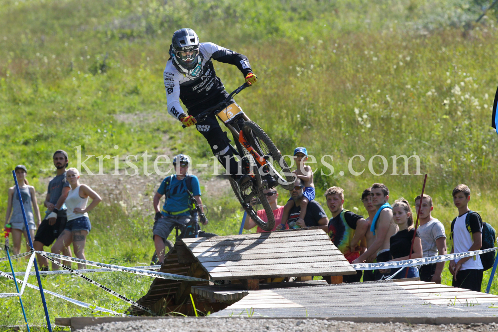
[[[253,317],[327,317],[357,322],[411,318],[412,323],[447,319],[439,324],[449,324],[453,318],[469,318],[470,322],[487,318],[484,321],[498,323],[496,295],[403,280],[248,291],[242,300],[213,315],[247,316],[253,311]]]

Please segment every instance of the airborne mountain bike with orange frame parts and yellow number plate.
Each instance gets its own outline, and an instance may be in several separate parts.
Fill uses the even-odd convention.
[[[249,87],[247,83],[233,91],[225,101],[198,114],[197,122],[204,121],[208,115],[215,113],[225,123],[234,137],[237,149],[232,145],[234,155],[239,157],[242,174],[250,176],[250,181],[239,186],[233,177],[229,177],[235,196],[248,216],[262,229],[272,230],[275,217],[263,193],[264,189],[280,185],[286,190],[294,187],[295,178],[273,141],[255,122],[232,102],[232,98]],[[185,128],[185,126],[183,126]],[[257,216],[258,210],[264,210],[267,222]]]

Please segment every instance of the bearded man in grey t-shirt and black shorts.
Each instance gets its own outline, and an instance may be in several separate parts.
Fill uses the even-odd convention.
[[[47,208],[45,218],[41,221],[38,231],[34,236],[33,247],[37,251],[43,251],[44,246],[50,246],[59,237],[66,226],[66,201],[71,187],[66,181],[66,167],[68,164],[67,153],[57,150],[53,155],[54,166],[57,175],[50,180],[47,189],[47,197],[44,205]],[[66,247],[63,255],[71,256],[71,249]],[[42,271],[48,271],[48,260],[37,255],[38,265]]]

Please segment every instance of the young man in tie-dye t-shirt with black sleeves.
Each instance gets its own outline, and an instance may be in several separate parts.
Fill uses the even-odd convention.
[[[368,222],[363,216],[345,210],[344,190],[339,187],[332,187],[325,192],[327,207],[332,213],[329,221],[329,236],[334,245],[343,253],[348,262],[352,262],[360,257],[360,252],[366,249],[364,234],[368,228]],[[343,282],[360,282],[362,271],[357,271],[356,275],[343,276]]]

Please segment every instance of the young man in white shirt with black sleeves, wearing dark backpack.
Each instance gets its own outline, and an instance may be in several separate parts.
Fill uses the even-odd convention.
[[[451,253],[492,248],[496,243],[496,232],[481,216],[468,207],[470,189],[460,184],[453,189],[453,203],[458,209],[458,217],[451,223]],[[483,271],[493,266],[495,252],[484,253],[450,261],[449,270],[453,275],[453,287],[480,292]]]

